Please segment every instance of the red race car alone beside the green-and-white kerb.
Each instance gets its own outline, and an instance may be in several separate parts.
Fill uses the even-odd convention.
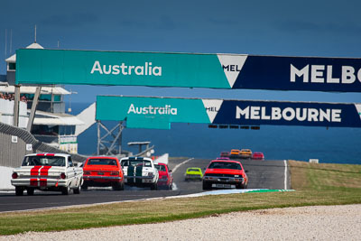
[[[213,160],[203,177],[203,190],[246,189],[248,177],[238,161]]]

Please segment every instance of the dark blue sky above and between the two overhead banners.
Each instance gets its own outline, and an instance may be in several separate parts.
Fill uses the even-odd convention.
[[[0,4],[0,54],[34,40],[45,48],[361,57],[361,2],[17,1]],[[5,29],[7,46],[5,53]],[[10,32],[12,46],[10,51]],[[0,64],[5,74],[5,61]],[[66,86],[74,102],[97,95],[361,102],[357,93]]]

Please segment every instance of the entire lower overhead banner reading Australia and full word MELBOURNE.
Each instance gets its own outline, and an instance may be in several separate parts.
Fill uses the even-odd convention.
[[[361,127],[361,104],[98,96],[97,120],[162,129],[171,123]]]

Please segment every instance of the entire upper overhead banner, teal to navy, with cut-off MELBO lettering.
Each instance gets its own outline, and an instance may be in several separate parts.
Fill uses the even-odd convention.
[[[130,51],[16,51],[16,82],[361,92],[361,59]]]

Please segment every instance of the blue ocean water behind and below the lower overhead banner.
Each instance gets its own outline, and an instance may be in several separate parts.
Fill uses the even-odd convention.
[[[89,103],[72,103],[73,115]],[[108,129],[116,122],[104,122]],[[123,131],[123,149],[137,153],[128,142],[150,141],[155,155],[216,158],[220,152],[249,148],[263,152],[268,160],[361,164],[360,128],[325,128],[262,125],[260,130],[209,129],[205,124],[171,124],[171,130],[131,129]],[[79,153],[97,153],[97,126],[78,137]]]

